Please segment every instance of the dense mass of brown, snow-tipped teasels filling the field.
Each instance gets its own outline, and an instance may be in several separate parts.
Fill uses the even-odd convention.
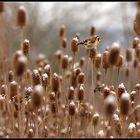
[[[140,137],[139,38],[124,55],[114,42],[102,54],[87,47],[79,59],[79,34],[68,44],[63,25],[54,54],[59,72],[52,70],[44,54],[30,69],[26,22],[26,9],[20,7],[21,45],[12,61],[0,58],[0,137]],[[90,35],[95,33],[91,27]]]

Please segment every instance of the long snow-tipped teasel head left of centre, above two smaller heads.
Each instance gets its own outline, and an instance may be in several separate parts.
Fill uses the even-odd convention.
[[[60,88],[60,80],[58,74],[54,73],[52,76],[52,91],[57,92]]]

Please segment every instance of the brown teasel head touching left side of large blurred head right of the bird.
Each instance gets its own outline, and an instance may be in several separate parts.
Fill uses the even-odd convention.
[[[104,69],[109,68],[109,51],[104,51],[102,56],[102,66]]]

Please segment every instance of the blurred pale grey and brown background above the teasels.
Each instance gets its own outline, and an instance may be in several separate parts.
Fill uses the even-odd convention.
[[[43,52],[52,60],[53,53],[59,48],[61,25],[66,27],[69,44],[76,33],[80,34],[81,40],[89,37],[91,26],[95,26],[101,38],[98,48],[101,52],[114,41],[120,42],[123,51],[123,48],[131,47],[133,38],[137,36],[133,30],[135,2],[5,2],[9,55],[19,48],[16,12],[20,5],[27,9],[24,34],[31,43],[31,59]]]

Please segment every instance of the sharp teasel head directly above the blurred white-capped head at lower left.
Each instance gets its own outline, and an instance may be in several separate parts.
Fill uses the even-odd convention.
[[[41,84],[41,77],[37,69],[32,72],[32,83],[33,86]]]

